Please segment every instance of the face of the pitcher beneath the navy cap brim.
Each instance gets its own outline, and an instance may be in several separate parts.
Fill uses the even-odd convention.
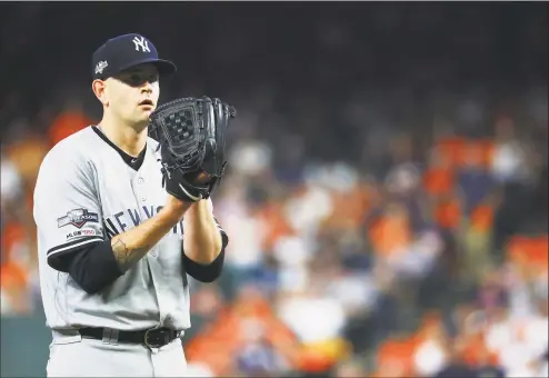
[[[130,125],[147,125],[160,96],[158,70],[137,66],[106,80],[108,106]]]

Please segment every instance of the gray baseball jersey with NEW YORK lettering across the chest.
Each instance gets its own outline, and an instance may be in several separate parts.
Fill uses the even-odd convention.
[[[98,132],[87,127],[59,142],[38,175],[33,216],[47,325],[52,329],[189,328],[182,221],[98,295],[88,295],[69,273],[48,263],[54,256],[138,226],[166,201],[158,142],[148,139],[144,160],[136,171]]]

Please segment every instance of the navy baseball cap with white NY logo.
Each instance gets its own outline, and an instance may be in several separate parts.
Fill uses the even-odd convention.
[[[93,52],[91,77],[104,80],[142,63],[153,63],[160,74],[177,70],[173,62],[158,58],[157,48],[149,39],[131,33],[111,38]]]

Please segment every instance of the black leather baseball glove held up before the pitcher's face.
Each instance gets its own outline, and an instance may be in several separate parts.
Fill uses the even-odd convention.
[[[173,197],[197,202],[210,197],[224,173],[226,133],[237,116],[219,99],[181,98],[158,107],[149,136],[159,142],[162,186]]]

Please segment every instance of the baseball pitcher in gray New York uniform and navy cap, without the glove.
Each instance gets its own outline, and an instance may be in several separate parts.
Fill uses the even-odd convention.
[[[228,237],[210,199],[182,200],[162,185],[148,127],[159,78],[174,71],[143,36],[109,39],[92,56],[101,121],[40,167],[33,217],[49,377],[184,375],[187,273],[217,279]]]

